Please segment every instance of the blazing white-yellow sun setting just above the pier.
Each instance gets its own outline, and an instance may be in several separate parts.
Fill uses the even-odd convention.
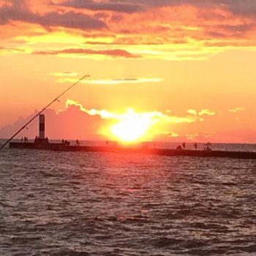
[[[118,140],[132,143],[142,140],[152,124],[150,116],[135,113],[135,110],[129,108],[127,113],[119,117],[118,123],[110,127],[110,131]]]

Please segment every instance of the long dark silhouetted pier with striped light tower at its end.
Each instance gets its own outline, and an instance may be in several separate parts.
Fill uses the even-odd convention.
[[[39,137],[34,142],[11,142],[9,148],[41,149],[51,151],[83,151],[83,152],[105,152],[116,154],[152,154],[166,157],[229,157],[235,159],[256,159],[256,152],[251,151],[217,151],[217,150],[192,150],[176,148],[149,148],[149,147],[122,147],[118,145],[106,146],[80,146],[77,143],[72,146],[69,143],[50,143],[45,138],[45,116],[39,115]]]

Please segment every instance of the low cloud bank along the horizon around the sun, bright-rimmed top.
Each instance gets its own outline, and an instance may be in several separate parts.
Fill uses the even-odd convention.
[[[34,115],[34,114],[33,114]],[[31,115],[31,116],[33,116]],[[19,118],[15,123],[2,127],[0,129],[0,138],[9,138],[26,121],[31,118]],[[79,102],[67,100],[64,109],[56,112],[55,110],[46,110],[46,134],[51,139],[72,138],[80,140],[105,140],[106,138],[116,139],[111,132],[118,135],[121,129],[121,136],[124,136],[124,127],[127,129],[132,124],[140,129],[127,133],[124,138],[140,135],[146,132],[143,140],[165,140],[165,141],[185,141],[197,140],[201,142],[255,142],[255,130],[241,129],[240,131],[213,131],[197,129],[193,131],[192,126],[197,126],[200,116],[174,116],[170,113],[160,111],[137,112],[129,108],[123,112],[113,112],[109,110],[97,110],[94,108],[85,108]],[[135,123],[133,123],[135,121]],[[129,125],[128,125],[129,124]],[[136,124],[140,124],[136,126]],[[116,127],[116,128],[115,128]],[[21,136],[34,138],[38,133],[38,123],[35,121],[24,129]],[[180,129],[181,128],[181,129]],[[113,130],[112,130],[113,129]],[[137,133],[138,132],[138,133]]]

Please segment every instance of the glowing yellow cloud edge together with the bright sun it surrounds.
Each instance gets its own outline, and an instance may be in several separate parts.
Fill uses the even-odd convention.
[[[133,108],[124,113],[114,113],[108,110],[86,109],[79,102],[68,99],[66,109],[70,106],[79,108],[89,116],[100,116],[102,119],[111,121],[99,130],[102,135],[110,138],[118,138],[123,141],[148,140],[154,138],[159,132],[163,132],[160,125],[166,124],[189,124],[197,121],[197,118],[186,116],[168,116],[159,111],[136,112]],[[60,110],[61,113],[63,110]],[[173,133],[174,135],[174,133]],[[178,136],[178,135],[177,135]]]

